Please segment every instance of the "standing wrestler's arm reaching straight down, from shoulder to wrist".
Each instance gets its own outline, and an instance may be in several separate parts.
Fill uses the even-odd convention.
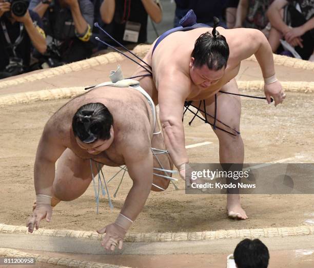
[[[184,126],[182,122],[184,102],[190,93],[190,79],[179,71],[159,82],[159,117],[164,141],[174,165],[185,179],[185,163],[189,162],[185,149]]]

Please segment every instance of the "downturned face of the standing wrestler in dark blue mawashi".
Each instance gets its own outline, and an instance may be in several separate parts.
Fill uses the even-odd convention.
[[[194,58],[190,61],[190,77],[192,82],[200,89],[206,89],[217,84],[225,74],[225,67],[220,70],[211,70],[204,64],[201,67],[194,66]]]

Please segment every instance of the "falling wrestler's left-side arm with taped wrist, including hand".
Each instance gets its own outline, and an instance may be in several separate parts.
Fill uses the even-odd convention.
[[[46,218],[48,222],[51,220],[51,197],[55,176],[55,162],[66,149],[62,145],[61,140],[55,122],[50,119],[44,128],[36,152],[34,164],[36,208],[26,225],[30,233],[33,232],[34,227],[36,229],[39,228],[42,219]]]

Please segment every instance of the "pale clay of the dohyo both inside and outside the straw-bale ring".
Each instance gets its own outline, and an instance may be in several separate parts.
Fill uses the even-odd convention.
[[[90,69],[58,75],[45,80],[5,87],[0,90],[0,95],[58,87],[94,85],[108,81],[109,71],[115,69],[119,63],[122,63],[125,77],[133,73],[135,65],[130,61],[101,64]],[[313,81],[312,70],[277,65],[276,73],[280,81]],[[242,62],[237,79],[261,80],[260,67],[255,62]],[[245,94],[263,96],[262,91],[246,91]],[[35,199],[33,164],[38,141],[49,117],[67,101],[69,100],[37,102],[1,109],[0,223],[26,224]],[[245,162],[265,163],[281,160],[285,163],[313,162],[313,104],[314,95],[305,93],[288,92],[284,104],[276,108],[273,105],[268,106],[265,101],[242,98],[241,133],[245,144]],[[198,119],[195,119],[192,126],[189,126],[188,122],[191,117],[189,114],[184,121],[186,145],[205,141],[212,143],[188,149],[190,161],[218,162],[218,139],[209,125],[205,125]],[[103,170],[108,179],[118,169],[104,167]],[[118,177],[109,184],[111,196],[119,181]],[[243,195],[242,203],[249,219],[234,221],[226,217],[225,196],[186,195],[184,182],[179,180],[177,185],[179,190],[174,190],[170,184],[166,192],[151,192],[143,212],[129,232],[192,232],[314,224],[313,195]],[[113,211],[108,206],[107,198],[101,197],[100,214],[96,215],[94,189],[91,184],[82,197],[58,204],[54,209],[51,223],[42,221],[41,228],[95,231],[114,221],[130,187],[131,180],[126,176],[117,197],[113,198]],[[270,250],[270,267],[310,268],[313,266],[313,248],[305,245],[312,239],[312,236],[282,239],[282,241],[278,239],[277,244],[274,243],[276,242],[274,239],[270,239],[271,241],[262,239]],[[226,240],[221,248],[213,244],[209,250],[214,252],[204,255],[110,256],[36,252],[23,250],[23,248],[21,250],[51,257],[58,256],[132,267],[216,268],[226,267],[226,257],[232,253],[237,242],[238,240]],[[144,252],[142,253],[144,254]],[[35,267],[62,266],[37,263]]]

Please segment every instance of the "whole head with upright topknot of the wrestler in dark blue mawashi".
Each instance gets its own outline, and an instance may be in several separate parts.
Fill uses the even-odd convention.
[[[214,17],[211,33],[200,35],[194,45],[190,60],[190,76],[195,85],[207,88],[217,83],[225,73],[229,46],[225,37],[216,30],[219,20]]]

